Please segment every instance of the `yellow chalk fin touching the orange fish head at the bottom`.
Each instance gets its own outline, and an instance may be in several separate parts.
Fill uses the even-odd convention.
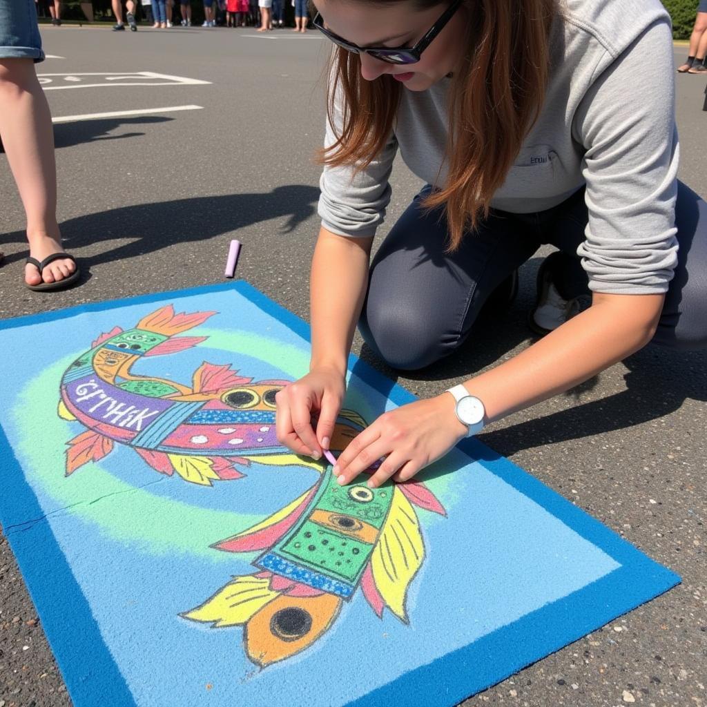
[[[201,606],[180,615],[192,621],[213,624],[212,628],[245,624],[266,604],[280,596],[280,592],[269,589],[269,583],[269,578],[255,575],[237,577]]]

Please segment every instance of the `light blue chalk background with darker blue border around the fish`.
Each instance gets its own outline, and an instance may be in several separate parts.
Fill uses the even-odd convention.
[[[203,361],[231,363],[254,382],[305,372],[308,327],[243,281],[0,323],[12,371],[0,392],[0,521],[76,707],[450,706],[679,582],[467,440],[420,478],[447,517],[416,508],[426,559],[407,597],[409,625],[387,610],[379,619],[358,590],[311,648],[259,670],[240,627],[212,629],[180,614],[255,571],[257,554],[209,544],[290,503],[316,472],[254,462],[247,477],[203,488],[163,477],[116,445],[67,478],[52,437],[56,426],[65,445],[83,431],[56,414],[64,361],[168,303],[216,310],[185,332],[209,339],[141,360],[134,373],[189,385]],[[369,423],[414,399],[353,356],[350,369],[346,407]]]

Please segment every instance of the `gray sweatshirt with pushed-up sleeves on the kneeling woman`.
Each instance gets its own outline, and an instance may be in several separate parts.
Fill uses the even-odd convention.
[[[322,226],[375,234],[390,201],[397,150],[424,182],[446,178],[450,79],[403,88],[395,129],[370,166],[325,168]],[[334,130],[340,124],[334,114]],[[325,144],[334,132],[327,121]],[[677,262],[678,139],[670,17],[659,0],[566,0],[551,33],[542,114],[491,206],[542,211],[586,185],[589,223],[578,255],[593,291],[662,293]],[[489,153],[489,159],[493,154]]]

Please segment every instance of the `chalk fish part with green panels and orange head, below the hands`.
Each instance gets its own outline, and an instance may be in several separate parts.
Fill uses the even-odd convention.
[[[408,624],[407,590],[425,557],[413,504],[446,515],[422,483],[339,486],[327,466],[288,506],[211,546],[262,551],[252,563],[259,571],[235,576],[182,617],[244,626],[247,656],[261,668],[315,643],[358,587],[378,617],[388,607]]]

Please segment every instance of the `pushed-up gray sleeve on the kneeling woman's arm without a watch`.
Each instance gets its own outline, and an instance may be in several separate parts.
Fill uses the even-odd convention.
[[[334,100],[332,125],[327,119],[325,146],[337,140],[342,122],[341,93]],[[397,140],[391,131],[382,149],[364,170],[354,167],[325,166],[320,178],[318,212],[322,226],[337,235],[369,237],[385,218],[390,202],[390,172],[397,153]]]

